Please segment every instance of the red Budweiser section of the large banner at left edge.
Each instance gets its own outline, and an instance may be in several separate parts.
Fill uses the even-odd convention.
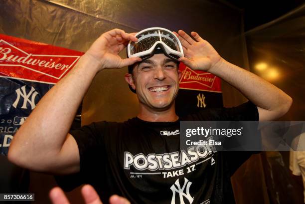
[[[57,83],[82,52],[0,34],[0,77]]]

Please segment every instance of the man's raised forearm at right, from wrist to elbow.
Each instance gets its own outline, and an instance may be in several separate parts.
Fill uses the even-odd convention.
[[[281,89],[261,77],[221,59],[211,70],[247,97],[256,106],[273,111],[289,108],[292,99]]]

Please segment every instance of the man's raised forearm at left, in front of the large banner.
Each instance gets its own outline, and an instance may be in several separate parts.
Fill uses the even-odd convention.
[[[41,98],[16,132],[9,156],[22,155],[22,160],[26,161],[37,158],[39,153],[51,158],[59,152],[99,66],[93,57],[83,55],[77,65]]]

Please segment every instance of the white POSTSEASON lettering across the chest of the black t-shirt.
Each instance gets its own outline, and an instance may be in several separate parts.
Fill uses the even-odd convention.
[[[140,153],[133,155],[130,152],[125,152],[124,169],[130,169],[134,166],[137,170],[171,170],[184,167],[199,159],[206,158],[216,152],[213,146],[191,146],[186,151],[164,153],[164,154],[149,154],[145,156]]]

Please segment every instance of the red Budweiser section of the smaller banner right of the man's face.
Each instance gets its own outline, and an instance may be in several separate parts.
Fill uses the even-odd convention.
[[[180,63],[179,70],[182,77],[179,81],[180,89],[210,91],[221,93],[221,79],[209,72],[192,70]]]

